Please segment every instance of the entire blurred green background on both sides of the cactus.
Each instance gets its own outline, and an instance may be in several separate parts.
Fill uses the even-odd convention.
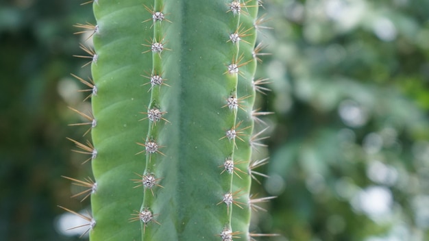
[[[57,205],[88,201],[62,178],[87,177],[82,139],[89,76],[78,0],[0,3],[0,240],[79,240]],[[264,0],[258,97],[270,155],[254,186],[278,196],[256,212],[260,240],[429,240],[429,1]],[[83,139],[82,139],[83,140]],[[65,222],[65,224],[64,224]],[[83,238],[85,239],[85,238]],[[82,240],[82,239],[81,239]]]

